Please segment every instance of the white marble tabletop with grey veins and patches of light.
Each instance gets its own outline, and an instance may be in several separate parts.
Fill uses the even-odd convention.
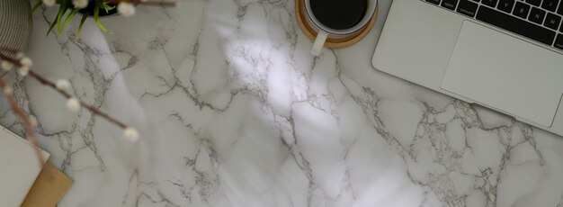
[[[138,143],[14,74],[75,184],[59,206],[563,206],[563,138],[371,67],[376,28],[319,58],[291,0],[139,7],[45,37],[35,69],[137,127]],[[406,60],[408,61],[408,60]],[[478,84],[478,83],[476,83]],[[22,133],[1,98],[0,123]]]

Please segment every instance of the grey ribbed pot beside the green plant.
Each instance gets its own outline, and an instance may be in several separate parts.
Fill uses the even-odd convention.
[[[0,47],[24,50],[31,37],[29,0],[0,0]],[[0,76],[5,72],[0,67]]]

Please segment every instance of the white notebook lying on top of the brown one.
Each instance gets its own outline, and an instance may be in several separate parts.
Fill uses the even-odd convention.
[[[49,153],[41,154],[49,158]],[[42,167],[27,140],[0,126],[0,206],[20,206]]]

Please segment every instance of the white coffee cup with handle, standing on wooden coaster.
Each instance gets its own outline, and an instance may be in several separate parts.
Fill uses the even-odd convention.
[[[303,4],[305,4],[305,16],[307,18],[307,22],[315,31],[317,31],[317,38],[315,40],[315,43],[313,44],[313,48],[311,49],[311,54],[313,54],[314,56],[319,56],[321,54],[321,50],[325,46],[326,39],[344,38],[352,35],[355,32],[361,31],[366,25],[368,25],[377,9],[377,0],[366,1],[368,2],[368,6],[362,20],[359,23],[356,23],[353,27],[345,30],[335,30],[327,27],[323,23],[320,23],[317,20],[317,17],[315,17],[315,15],[313,14],[310,0],[303,0]]]

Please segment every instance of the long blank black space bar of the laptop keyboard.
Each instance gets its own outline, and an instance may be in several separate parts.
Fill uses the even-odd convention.
[[[476,18],[485,23],[490,23],[496,27],[512,31],[547,45],[551,45],[555,39],[555,31],[550,31],[539,25],[528,23],[510,14],[498,12],[487,6],[479,7]]]

